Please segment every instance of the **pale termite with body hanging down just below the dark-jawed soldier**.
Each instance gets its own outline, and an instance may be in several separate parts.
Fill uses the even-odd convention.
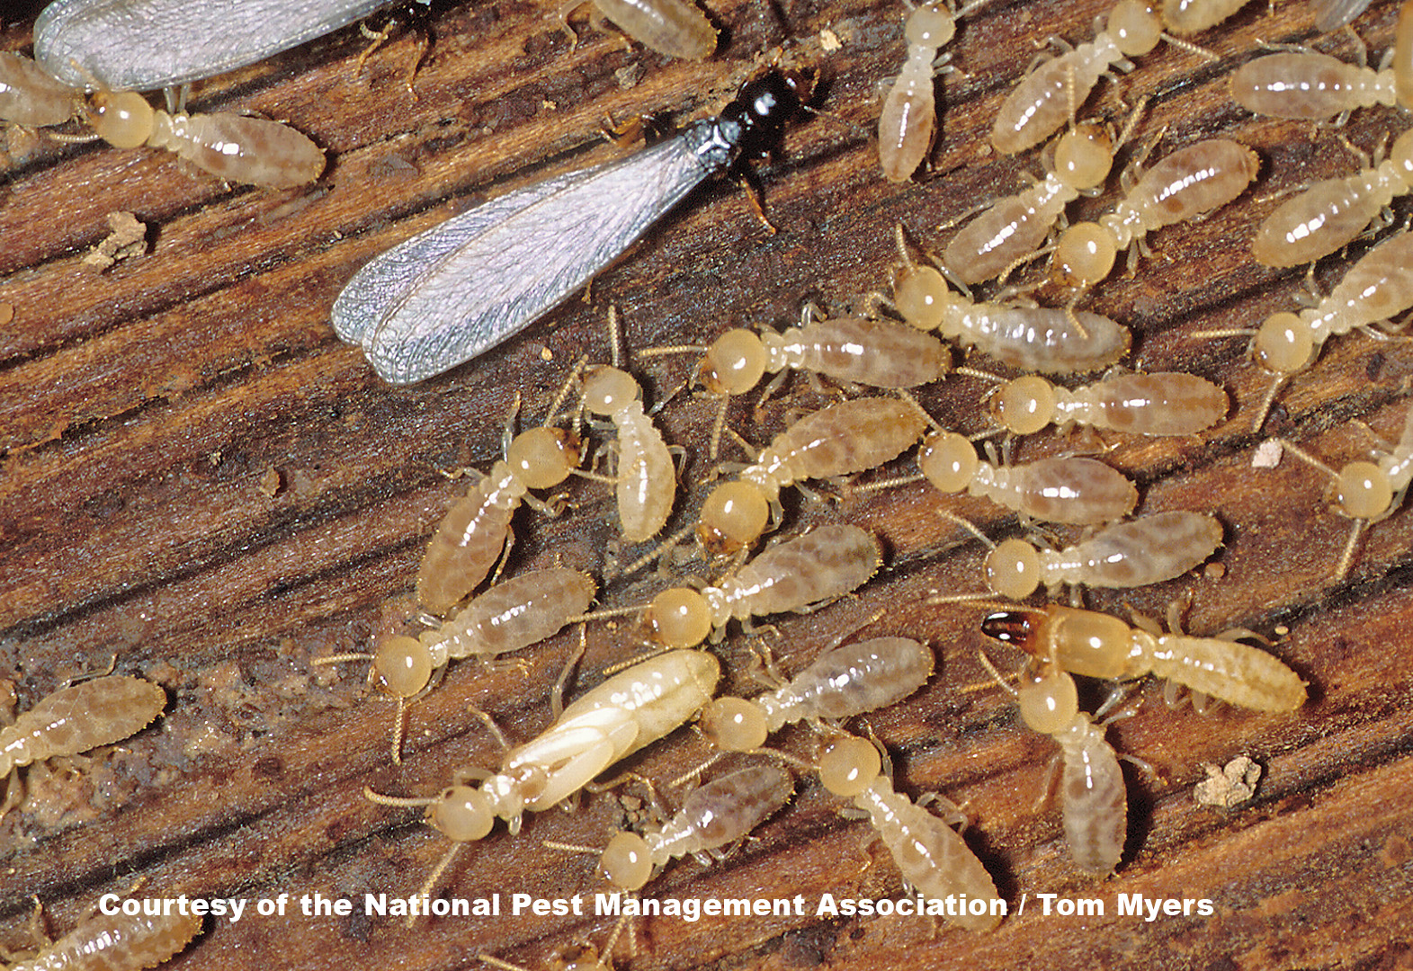
[[[1108,876],[1123,858],[1123,842],[1129,835],[1129,799],[1119,758],[1104,739],[1106,722],[1096,724],[1080,711],[1074,678],[1054,664],[1041,663],[1039,669],[1029,670],[1017,690],[1002,680],[985,654],[981,660],[996,684],[1016,700],[1026,726],[1048,735],[1060,746],[1065,844],[1080,869]],[[1095,717],[1099,715],[1102,711]],[[1046,789],[1048,791],[1048,784]]]

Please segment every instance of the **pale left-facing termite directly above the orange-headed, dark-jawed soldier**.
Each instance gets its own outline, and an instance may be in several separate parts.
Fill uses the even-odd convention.
[[[968,530],[971,523],[958,517]],[[1000,596],[1023,599],[1041,585],[1054,596],[1064,585],[1129,589],[1160,584],[1207,560],[1222,544],[1222,524],[1207,513],[1166,512],[1111,523],[1063,550],[1017,539],[992,544],[983,571]],[[947,601],[950,598],[940,598]]]

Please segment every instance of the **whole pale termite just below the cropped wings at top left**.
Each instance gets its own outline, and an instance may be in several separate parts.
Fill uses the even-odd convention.
[[[229,182],[290,188],[324,171],[324,150],[288,124],[215,112],[170,114],[130,90],[97,90],[85,110],[103,141],[117,148],[167,148]]]

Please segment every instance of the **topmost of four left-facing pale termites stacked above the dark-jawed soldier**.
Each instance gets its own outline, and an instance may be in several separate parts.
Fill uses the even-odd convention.
[[[899,249],[907,252],[899,232]],[[1075,375],[1108,367],[1129,349],[1130,335],[1108,317],[1048,307],[1006,307],[954,293],[930,266],[910,260],[893,284],[893,304],[903,319],[935,329],[962,346],[1022,370]]]

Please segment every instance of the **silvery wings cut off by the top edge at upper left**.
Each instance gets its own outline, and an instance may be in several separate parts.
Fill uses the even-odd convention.
[[[154,90],[263,61],[346,27],[389,0],[54,0],[34,57],[59,81]]]

